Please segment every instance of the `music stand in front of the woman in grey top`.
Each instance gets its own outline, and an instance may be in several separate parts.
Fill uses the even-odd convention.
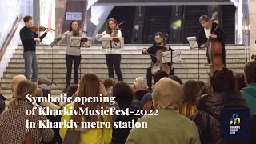
[[[71,37],[70,38],[70,47],[74,47],[74,49],[81,49],[81,47],[90,48],[91,45],[91,37]],[[80,80],[81,80],[81,67],[82,62],[80,62],[79,71],[80,71]]]

